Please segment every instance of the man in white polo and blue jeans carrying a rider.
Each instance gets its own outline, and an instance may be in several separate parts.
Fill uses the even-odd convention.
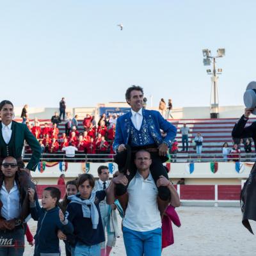
[[[150,173],[152,159],[147,150],[136,153],[137,172],[127,188],[128,205],[123,221],[124,244],[127,256],[160,256],[162,245],[162,223],[157,207],[157,186],[165,186],[171,193],[173,207],[180,205],[179,195],[172,183],[163,175],[157,186]],[[107,203],[115,200],[115,184],[127,184],[125,175],[113,178],[107,190]]]

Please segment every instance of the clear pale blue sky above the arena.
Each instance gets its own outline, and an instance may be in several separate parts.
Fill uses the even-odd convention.
[[[256,80],[256,1],[0,1],[1,99],[15,106],[124,101],[131,84],[173,106],[208,106],[202,49],[216,52],[220,105]],[[120,31],[117,24],[124,24]]]

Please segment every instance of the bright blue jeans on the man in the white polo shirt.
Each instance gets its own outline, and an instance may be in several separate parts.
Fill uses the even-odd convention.
[[[162,228],[138,232],[123,227],[123,236],[127,256],[161,256]]]

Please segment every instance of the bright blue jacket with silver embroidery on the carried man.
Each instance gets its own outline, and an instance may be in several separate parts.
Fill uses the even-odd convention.
[[[131,115],[132,113],[129,111],[129,113],[117,118],[116,134],[113,143],[113,150],[115,152],[120,144],[129,143],[132,124]],[[148,132],[150,132],[150,136],[154,139],[156,145],[158,146],[164,142],[170,147],[177,134],[177,128],[165,120],[158,111],[142,109],[142,115],[147,122]],[[165,138],[162,138],[160,129],[167,133]]]

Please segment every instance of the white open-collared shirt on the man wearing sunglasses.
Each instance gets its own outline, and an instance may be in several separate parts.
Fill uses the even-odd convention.
[[[6,190],[4,182],[0,190],[0,200],[3,203],[1,209],[1,215],[6,220],[12,220],[19,218],[20,216],[20,192],[17,188],[16,182],[14,182],[13,188],[10,193]]]

